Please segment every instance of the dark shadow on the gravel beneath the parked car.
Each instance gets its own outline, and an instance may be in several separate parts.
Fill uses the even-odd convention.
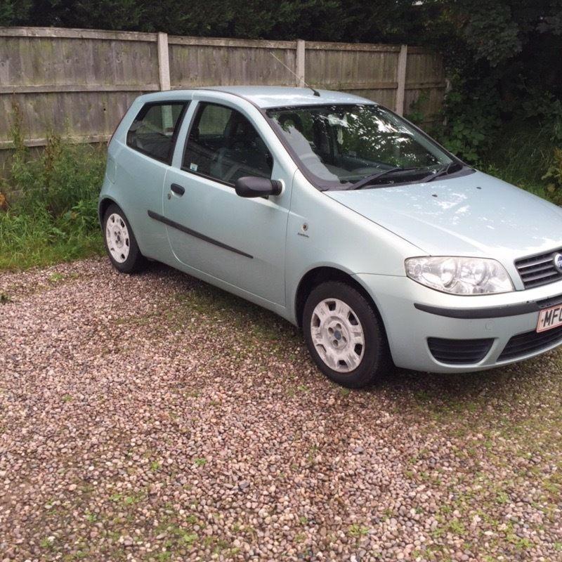
[[[181,294],[191,293],[188,306],[195,303],[195,306],[211,307],[223,314],[227,322],[244,322],[249,333],[263,341],[263,345],[285,339],[293,347],[299,346],[301,357],[292,358],[296,367],[312,364],[301,330],[275,313],[161,263],[151,262],[147,273],[168,277]],[[283,353],[282,346],[280,353]],[[558,352],[552,351],[538,358],[481,372],[433,374],[395,369],[372,386],[353,392],[373,398],[383,393],[397,408],[406,410],[412,406],[431,406],[437,410],[473,412],[477,405],[480,409],[490,405],[492,400],[509,403],[522,392],[540,387],[549,372],[559,370],[558,361]],[[325,380],[320,371],[314,372],[318,379]],[[332,383],[326,381],[326,384]]]

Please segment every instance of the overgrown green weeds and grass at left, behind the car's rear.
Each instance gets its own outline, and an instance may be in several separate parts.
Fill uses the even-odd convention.
[[[70,261],[103,248],[97,198],[105,147],[75,145],[52,135],[39,157],[25,147],[14,106],[15,152],[3,190],[15,194],[0,212],[0,269],[25,269]]]

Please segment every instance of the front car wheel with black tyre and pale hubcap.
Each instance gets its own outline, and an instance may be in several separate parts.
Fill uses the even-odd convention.
[[[365,296],[344,282],[313,289],[304,306],[303,330],[312,358],[338,384],[360,388],[391,367],[379,316]]]

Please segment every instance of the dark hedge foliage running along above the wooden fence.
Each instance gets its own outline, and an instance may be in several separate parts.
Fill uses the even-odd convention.
[[[421,33],[412,0],[0,0],[0,6],[2,25],[352,42]]]

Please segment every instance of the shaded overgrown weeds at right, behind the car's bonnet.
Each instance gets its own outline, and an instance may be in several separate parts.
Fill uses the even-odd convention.
[[[538,94],[511,119],[502,119],[499,98],[488,96],[488,81],[467,89],[453,77],[455,89],[445,96],[437,123],[424,127],[422,94],[407,118],[464,162],[519,188],[562,204],[562,103]],[[459,84],[460,81],[460,84]]]

